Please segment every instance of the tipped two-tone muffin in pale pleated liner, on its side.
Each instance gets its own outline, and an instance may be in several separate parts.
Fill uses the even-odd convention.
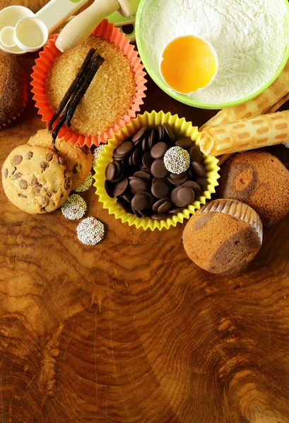
[[[213,274],[240,274],[262,243],[259,216],[246,204],[215,200],[191,217],[182,236],[184,250]]]

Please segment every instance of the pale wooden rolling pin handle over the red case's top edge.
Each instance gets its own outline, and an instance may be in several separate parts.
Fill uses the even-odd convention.
[[[88,38],[102,21],[111,13],[119,10],[117,0],[95,0],[85,11],[73,18],[57,38],[56,46],[60,51],[69,51]]]

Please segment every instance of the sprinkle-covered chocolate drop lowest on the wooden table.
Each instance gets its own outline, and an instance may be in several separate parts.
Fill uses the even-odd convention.
[[[95,217],[87,217],[76,228],[77,238],[85,245],[96,245],[105,236],[105,226]]]

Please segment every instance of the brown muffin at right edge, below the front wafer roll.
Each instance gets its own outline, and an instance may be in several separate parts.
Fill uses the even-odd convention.
[[[218,194],[248,204],[272,225],[289,212],[289,171],[267,152],[237,154],[221,172]]]

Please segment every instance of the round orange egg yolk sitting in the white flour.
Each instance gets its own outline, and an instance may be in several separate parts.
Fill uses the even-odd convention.
[[[217,71],[210,45],[193,35],[173,39],[163,51],[160,72],[172,90],[189,94],[206,87]]]

